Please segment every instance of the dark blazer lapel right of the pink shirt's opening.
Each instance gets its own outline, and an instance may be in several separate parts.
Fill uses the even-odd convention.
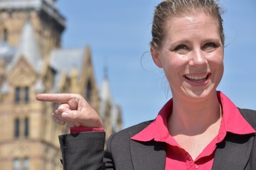
[[[213,170],[245,169],[252,151],[254,135],[228,133],[215,151]]]

